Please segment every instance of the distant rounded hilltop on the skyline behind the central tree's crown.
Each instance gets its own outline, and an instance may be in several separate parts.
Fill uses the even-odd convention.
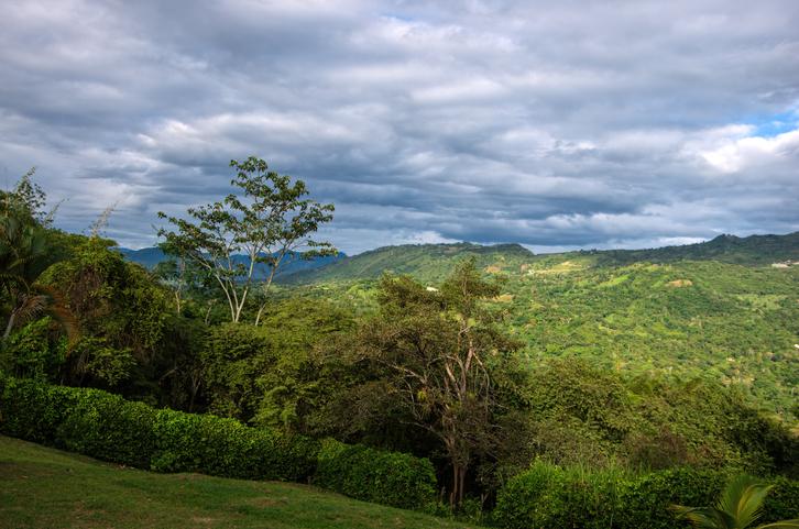
[[[375,279],[384,272],[411,274],[419,280],[438,283],[451,272],[452,266],[468,257],[474,257],[479,267],[489,273],[516,271],[534,257],[519,244],[406,244],[385,246],[342,258],[330,265],[298,273],[286,282],[318,283],[331,280]]]

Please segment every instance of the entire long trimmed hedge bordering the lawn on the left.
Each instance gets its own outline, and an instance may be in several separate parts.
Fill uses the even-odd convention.
[[[0,432],[157,472],[294,482],[315,476],[321,487],[396,507],[424,508],[436,494],[426,459],[320,443],[211,415],[156,410],[99,389],[2,373]]]

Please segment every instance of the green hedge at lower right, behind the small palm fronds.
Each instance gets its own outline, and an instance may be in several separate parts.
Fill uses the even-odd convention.
[[[632,476],[614,472],[581,473],[536,462],[500,491],[493,519],[500,527],[580,527],[675,529],[671,504],[713,505],[730,475],[723,471],[677,467]],[[785,477],[767,496],[764,520],[795,518],[799,482]]]

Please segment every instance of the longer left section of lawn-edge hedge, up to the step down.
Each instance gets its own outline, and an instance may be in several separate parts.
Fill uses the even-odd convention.
[[[158,472],[306,482],[319,443],[211,415],[156,410],[91,388],[7,377],[0,432]]]

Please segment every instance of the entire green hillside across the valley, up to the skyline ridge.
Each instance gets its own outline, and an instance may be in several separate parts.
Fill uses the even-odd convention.
[[[436,286],[474,256],[532,362],[580,356],[630,376],[710,377],[799,420],[799,233],[656,250],[533,255],[518,245],[394,246],[297,274],[311,295],[374,308],[384,271]]]

